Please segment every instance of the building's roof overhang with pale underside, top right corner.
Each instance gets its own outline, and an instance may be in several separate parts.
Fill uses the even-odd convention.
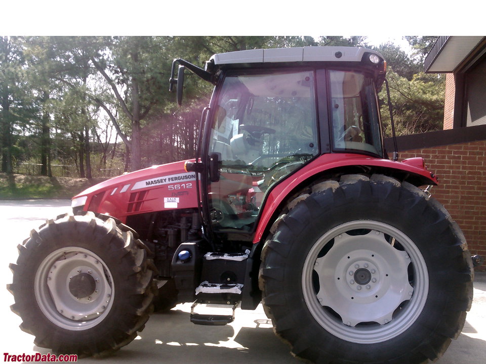
[[[451,73],[486,40],[484,35],[440,36],[425,57],[426,73]]]

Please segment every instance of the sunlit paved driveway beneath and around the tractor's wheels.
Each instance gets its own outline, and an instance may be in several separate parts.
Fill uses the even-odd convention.
[[[69,210],[69,200],[0,201],[0,229],[4,251],[0,255],[0,317],[3,333],[0,354],[48,353],[33,345],[33,337],[18,326],[20,317],[10,311],[12,295],[1,287],[12,282],[8,268],[17,258],[17,244],[46,218]],[[197,326],[189,321],[190,304],[180,304],[167,313],[150,317],[145,330],[103,364],[163,362],[164,364],[249,362],[295,364],[289,348],[273,334],[270,321],[259,306],[255,311],[236,310],[235,321],[222,327]],[[483,364],[486,362],[486,274],[476,275],[474,302],[463,333],[453,340],[438,364]],[[96,363],[94,358],[80,360]]]

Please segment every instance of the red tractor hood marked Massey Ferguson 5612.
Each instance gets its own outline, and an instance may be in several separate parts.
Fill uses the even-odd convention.
[[[125,222],[132,214],[195,208],[196,175],[184,170],[185,162],[156,165],[103,181],[74,196],[73,210],[103,213]]]

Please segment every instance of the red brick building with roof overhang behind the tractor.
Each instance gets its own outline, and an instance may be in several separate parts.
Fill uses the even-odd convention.
[[[400,159],[425,159],[439,176],[432,195],[457,221],[471,253],[486,257],[486,36],[439,37],[425,71],[447,73],[444,130],[399,136]],[[390,140],[385,145],[392,150]]]

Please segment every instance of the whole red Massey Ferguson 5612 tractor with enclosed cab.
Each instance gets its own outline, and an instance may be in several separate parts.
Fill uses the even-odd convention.
[[[11,264],[22,330],[56,352],[104,355],[153,306],[194,302],[194,324],[225,325],[262,302],[310,361],[439,357],[470,308],[472,262],[423,159],[384,150],[383,56],[250,50],[204,69],[176,59],[172,76],[176,64],[179,104],[185,68],[215,85],[198,155],[107,180],[33,230]],[[195,312],[209,302],[233,315]]]

